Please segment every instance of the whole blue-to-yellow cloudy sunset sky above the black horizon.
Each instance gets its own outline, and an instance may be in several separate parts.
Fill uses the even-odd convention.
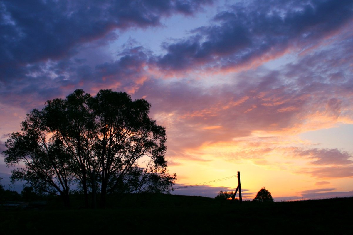
[[[174,194],[235,191],[215,180],[240,171],[243,200],[353,196],[352,0],[2,0],[0,16],[0,151],[47,100],[112,89],[151,103],[175,188],[208,182]]]

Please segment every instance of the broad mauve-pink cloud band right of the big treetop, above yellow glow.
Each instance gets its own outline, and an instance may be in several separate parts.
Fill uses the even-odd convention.
[[[269,136],[300,133],[330,127],[343,116],[349,119],[348,101],[353,100],[347,86],[351,81],[327,84],[311,79],[302,86],[301,75],[309,68],[288,74],[292,66],[283,71],[242,72],[233,81],[212,87],[203,84],[207,80],[149,79],[136,97],[152,103],[152,115],[166,126],[173,139],[170,144],[185,148],[231,141],[252,132]]]

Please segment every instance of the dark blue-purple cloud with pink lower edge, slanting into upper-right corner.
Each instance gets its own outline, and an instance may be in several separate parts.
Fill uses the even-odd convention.
[[[195,67],[232,68],[261,65],[286,50],[303,50],[352,20],[350,2],[252,1],[217,14],[216,24],[193,30],[194,35],[165,43],[167,54],[157,64],[163,70]]]

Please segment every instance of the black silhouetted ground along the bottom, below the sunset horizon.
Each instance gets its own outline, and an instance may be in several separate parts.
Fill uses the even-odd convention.
[[[353,234],[353,197],[253,203],[179,195],[109,209],[0,208],[0,234]]]

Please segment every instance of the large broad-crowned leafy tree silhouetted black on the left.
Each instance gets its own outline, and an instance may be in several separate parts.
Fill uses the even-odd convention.
[[[67,205],[74,185],[86,206],[89,193],[104,206],[108,193],[169,192],[176,175],[167,172],[166,131],[149,118],[150,107],[112,90],[47,101],[6,141],[7,166],[21,163],[12,180],[58,194]]]

